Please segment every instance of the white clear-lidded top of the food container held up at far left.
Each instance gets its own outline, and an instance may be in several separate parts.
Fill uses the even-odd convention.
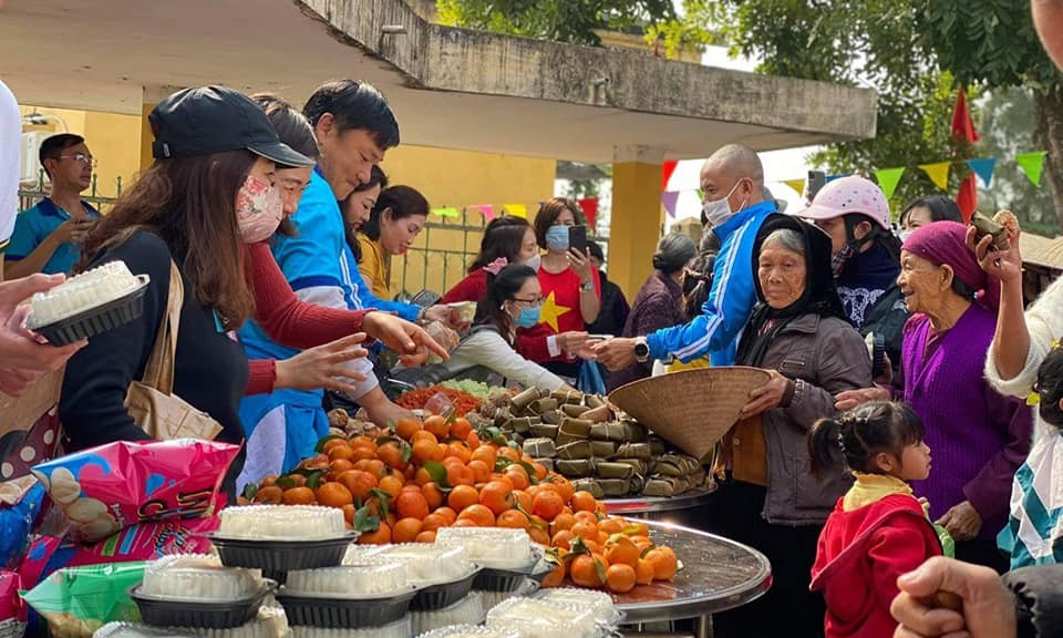
[[[142,281],[130,272],[125,261],[109,261],[85,270],[51,290],[33,295],[30,327],[48,326],[114,301],[136,290]]]

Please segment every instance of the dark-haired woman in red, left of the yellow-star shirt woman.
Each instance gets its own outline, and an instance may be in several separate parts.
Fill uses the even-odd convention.
[[[468,276],[447,290],[440,303],[478,301],[487,291],[487,271],[484,267],[499,258],[507,264],[525,264],[538,271],[539,247],[535,243],[535,230],[524,217],[506,215],[487,224],[484,238],[479,241],[479,254],[468,266]]]

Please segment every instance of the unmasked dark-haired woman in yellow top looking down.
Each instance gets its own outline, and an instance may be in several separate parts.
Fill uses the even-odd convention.
[[[358,233],[358,269],[376,297],[392,298],[389,259],[406,254],[427,223],[429,210],[429,200],[410,186],[392,186],[380,193],[369,220]]]

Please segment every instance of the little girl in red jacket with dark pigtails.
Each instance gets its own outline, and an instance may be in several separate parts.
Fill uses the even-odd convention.
[[[808,433],[813,472],[842,463],[853,487],[819,534],[812,590],[827,603],[827,638],[890,638],[897,577],[941,554],[941,543],[908,481],[930,474],[919,416],[904,403],[873,401]]]

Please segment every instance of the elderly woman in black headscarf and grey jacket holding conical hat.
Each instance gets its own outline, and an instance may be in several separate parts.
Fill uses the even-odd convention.
[[[809,569],[850,478],[840,471],[814,476],[805,441],[818,419],[834,415],[835,394],[870,380],[871,363],[838,298],[826,234],[772,216],[757,233],[753,270],[757,305],[737,363],[771,379],[750,393],[718,447],[709,527],[763,552],[774,582],[764,597],[714,619],[727,636],[822,636],[824,605],[808,591]]]

